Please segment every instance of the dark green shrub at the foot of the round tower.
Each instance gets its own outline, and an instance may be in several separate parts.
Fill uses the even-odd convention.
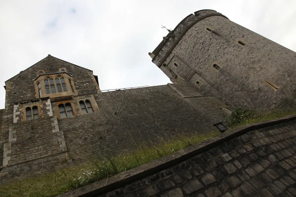
[[[239,107],[231,112],[231,114],[226,118],[225,122],[227,123],[228,127],[233,128],[244,124],[251,119],[255,119],[258,116],[259,115],[253,109]]]

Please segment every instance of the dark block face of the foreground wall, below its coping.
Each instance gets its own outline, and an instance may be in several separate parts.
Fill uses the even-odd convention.
[[[106,185],[106,180],[103,181]],[[296,196],[296,121],[248,131],[184,162],[112,190],[97,196]],[[85,193],[87,188],[82,191]]]

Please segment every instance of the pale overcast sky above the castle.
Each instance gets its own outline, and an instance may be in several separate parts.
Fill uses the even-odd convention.
[[[296,0],[0,0],[1,85],[48,54],[93,70],[101,90],[167,84],[148,56],[168,33],[160,24],[200,9],[296,51]]]

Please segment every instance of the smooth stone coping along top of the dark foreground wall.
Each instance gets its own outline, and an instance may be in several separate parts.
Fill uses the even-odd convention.
[[[199,153],[205,152],[206,150],[216,147],[225,141],[233,139],[241,134],[248,131],[261,129],[264,127],[270,127],[276,124],[285,123],[289,121],[296,120],[296,115],[286,116],[282,118],[277,118],[273,120],[263,121],[259,123],[252,123],[249,125],[239,126],[229,131],[225,131],[215,137],[206,139],[198,144],[186,147],[172,155],[162,157],[160,159],[154,160],[147,164],[140,165],[133,169],[118,173],[114,176],[108,177],[106,179],[94,182],[92,184],[77,188],[68,193],[58,195],[57,197],[93,197],[104,194],[120,188],[126,184],[133,181],[142,179],[146,176],[154,174],[158,171],[166,169],[175,164],[179,164],[190,157],[193,157]]]

